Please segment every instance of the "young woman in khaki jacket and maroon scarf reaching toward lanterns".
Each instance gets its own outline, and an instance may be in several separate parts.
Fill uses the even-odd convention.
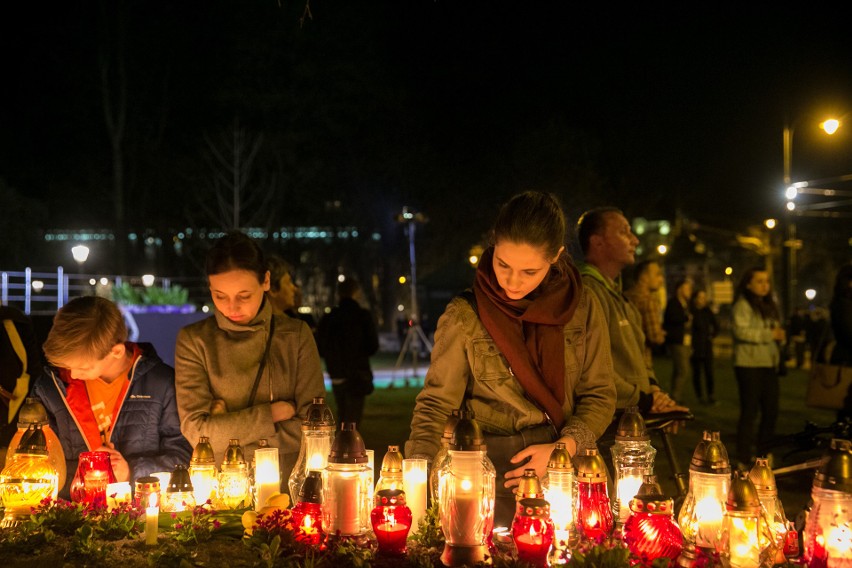
[[[552,195],[526,192],[503,205],[475,302],[453,299],[438,321],[405,446],[407,457],[431,461],[470,382],[467,407],[497,470],[498,526],[512,521],[524,469],[542,478],[557,441],[572,456],[595,447],[615,411],[607,327],[565,252],[565,229]]]

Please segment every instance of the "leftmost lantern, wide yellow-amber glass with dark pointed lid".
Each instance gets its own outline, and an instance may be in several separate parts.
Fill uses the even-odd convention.
[[[18,525],[30,517],[32,507],[43,499],[56,499],[59,474],[50,461],[41,426],[20,440],[15,459],[0,472],[0,502],[5,508],[0,527]]]

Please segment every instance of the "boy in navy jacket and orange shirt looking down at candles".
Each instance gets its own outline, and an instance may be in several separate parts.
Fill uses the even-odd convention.
[[[149,343],[127,341],[118,307],[97,296],[61,308],[43,345],[48,366],[33,386],[59,437],[69,488],[81,452],[110,453],[118,481],[188,464],[192,447],[180,431],[174,369]]]

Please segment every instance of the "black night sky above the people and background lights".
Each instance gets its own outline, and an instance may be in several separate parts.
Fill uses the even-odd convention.
[[[39,226],[112,222],[102,68],[114,103],[125,73],[129,228],[215,225],[198,203],[234,124],[262,136],[248,185],[275,188],[244,220],[390,231],[409,205],[442,250],[523,189],[572,218],[778,216],[785,117],[794,179],[852,173],[852,137],[815,130],[852,111],[852,33],[816,7],[313,0],[302,23],[304,0],[116,4],[3,18],[0,191]]]

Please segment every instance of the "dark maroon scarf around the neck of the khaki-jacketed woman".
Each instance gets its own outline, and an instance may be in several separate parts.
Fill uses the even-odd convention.
[[[494,247],[483,253],[474,293],[479,317],[527,395],[557,429],[565,419],[565,339],[562,328],[580,301],[582,281],[570,262],[552,268],[529,296],[510,300],[494,274]]]

